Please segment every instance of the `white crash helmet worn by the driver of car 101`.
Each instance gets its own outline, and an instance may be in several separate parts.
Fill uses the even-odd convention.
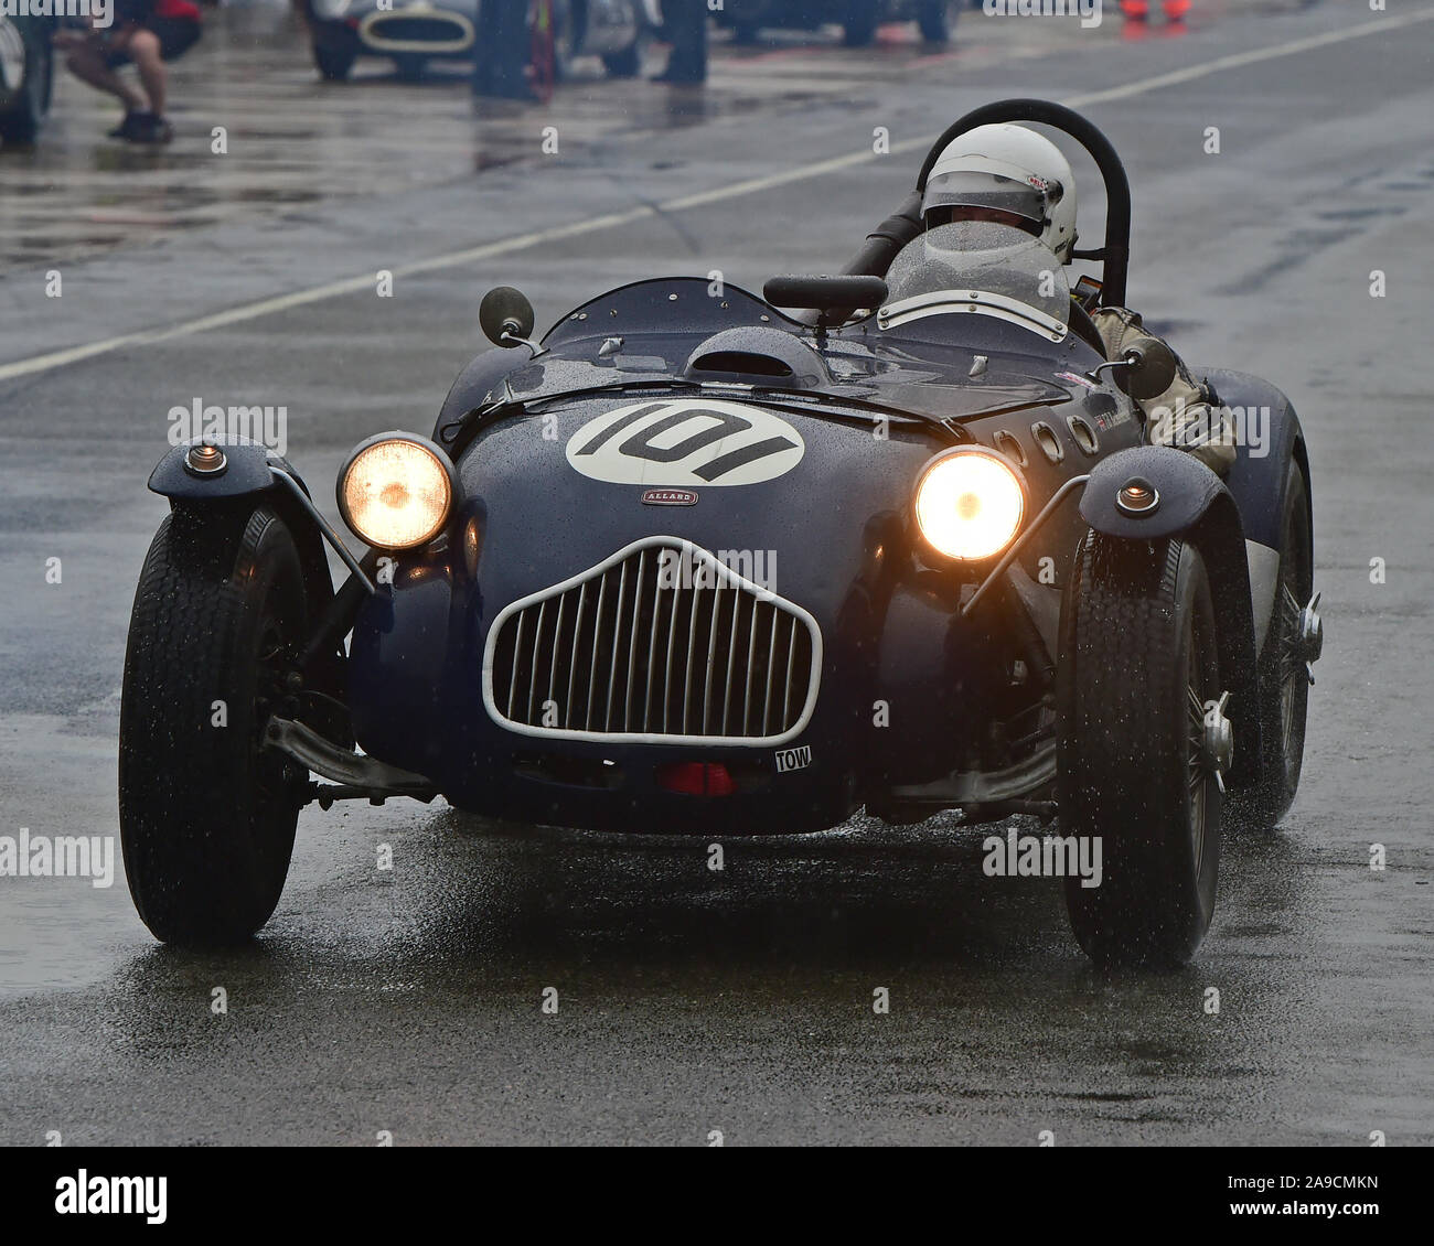
[[[1071,262],[1076,175],[1055,143],[1025,126],[977,126],[952,139],[926,178],[921,209],[928,229],[972,218],[1015,225]]]

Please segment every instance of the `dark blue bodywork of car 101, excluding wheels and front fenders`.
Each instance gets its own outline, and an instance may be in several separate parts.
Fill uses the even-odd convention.
[[[749,348],[770,350],[769,360],[789,350],[809,354],[810,380],[783,390],[774,379],[723,380],[691,366],[701,360],[704,343],[741,325],[751,330]],[[1022,715],[1040,736],[1040,698],[1022,704],[1007,685],[1011,662],[1024,657],[1007,632],[1007,618],[956,612],[981,576],[952,575],[922,555],[909,522],[912,485],[945,446],[987,444],[1020,456],[1038,510],[1070,477],[1141,444],[1143,426],[1119,389],[1084,380],[1100,356],[1077,334],[1045,353],[1032,334],[1001,321],[972,317],[959,331],[959,343],[951,340],[949,323],[882,333],[872,317],[829,334],[817,351],[810,330],[759,298],[731,287],[714,298],[706,281],[675,278],[627,287],[578,308],[545,338],[549,353],[531,363],[506,351],[480,356],[455,384],[435,440],[452,436],[463,414],[490,401],[502,384],[532,410],[496,420],[466,442],[457,459],[466,500],[446,546],[399,558],[389,591],[360,609],[350,667],[360,744],[432,777],[467,809],[621,829],[806,830],[840,822],[866,802],[919,799],[916,789],[948,781],[956,771],[1011,771],[1025,764],[1027,777],[1044,774],[1048,781],[1050,766],[1041,766],[1043,756],[1053,763],[1048,731],[1025,754],[992,744],[994,723],[1018,726]],[[779,334],[792,341],[777,341]],[[604,343],[612,337],[622,338],[622,350],[604,358]],[[977,356],[987,357],[987,370],[971,379]],[[700,389],[667,386],[664,377]],[[1258,381],[1228,374],[1222,384],[1233,393]],[[760,397],[751,396],[753,386]],[[618,389],[565,396],[602,387]],[[913,400],[959,432],[903,416],[903,404],[909,410]],[[641,473],[632,482],[575,470],[565,449],[605,413],[634,406],[660,409],[655,414],[667,416],[670,439],[684,429],[694,434],[706,429],[713,406],[737,413],[756,406],[794,430],[802,449],[786,452],[793,463],[782,475],[734,486],[720,476],[711,483],[693,480],[687,465],[673,469],[660,459],[641,459],[644,446],[627,456]],[[1298,443],[1293,413],[1288,404],[1281,410],[1286,439]],[[673,424],[674,417],[681,419]],[[1043,449],[1053,444],[1060,456],[1054,460]],[[1288,440],[1283,452],[1288,460]],[[700,457],[703,446],[693,453]],[[1271,467],[1278,463],[1269,460]],[[1256,526],[1260,520],[1268,526],[1265,516],[1278,513],[1276,475],[1248,455],[1236,473],[1238,485],[1253,486],[1240,492],[1258,503]],[[675,492],[688,505],[654,500],[654,489]],[[1068,500],[1012,565],[1022,612],[1048,655],[1057,648],[1061,586],[1084,526],[1076,500]],[[739,678],[731,687],[723,662],[731,655],[731,624],[723,602],[701,601],[700,586],[678,584],[655,621],[651,602],[647,612],[635,604],[642,619],[641,670],[631,691],[648,704],[634,713],[628,652],[621,651],[635,627],[634,569],[622,615],[618,575],[598,575],[581,622],[569,601],[561,628],[554,617],[541,639],[529,637],[551,651],[539,658],[539,675],[556,672],[555,683],[548,680],[556,718],[543,727],[541,714],[529,714],[531,657],[519,657],[515,674],[512,655],[498,654],[502,662],[495,671],[489,655],[495,622],[518,601],[541,601],[555,585],[581,584],[622,551],[634,551],[635,559],[644,542],[652,548],[651,563],[657,549],[690,542],[720,565],[749,569],[749,578],[757,571],[783,607],[810,615],[802,625],[815,628],[812,651],[820,661],[800,688],[789,690],[784,671],[766,668],[760,648],[770,644],[771,612],[760,601],[756,641],[746,602],[737,611]],[[655,568],[644,582],[648,592],[654,576]],[[597,594],[604,585],[599,615]],[[731,589],[728,601],[736,605]],[[714,608],[716,695],[701,651],[713,639],[707,615]],[[674,612],[678,671],[663,678],[663,690],[648,693],[648,660],[655,655],[665,675]],[[776,614],[777,645],[786,651],[793,615]],[[700,618],[694,622],[691,615]],[[700,670],[687,670],[688,638],[700,650]],[[1028,645],[1031,638],[1022,639]],[[799,657],[807,652],[803,648]],[[780,675],[783,714],[766,714],[759,727],[753,710],[746,731],[728,727],[724,736],[717,705],[736,718],[726,701],[746,703],[749,671],[761,681],[763,700],[767,675],[774,681]],[[519,705],[508,701],[513,678],[523,681]],[[701,710],[691,704],[697,690],[687,687],[690,680],[703,685]],[[812,713],[803,717],[797,711],[813,688]],[[688,703],[685,727],[677,721],[678,690]],[[664,693],[673,701],[665,727],[654,713]],[[743,734],[750,738],[733,743]],[[716,740],[728,743],[710,743]],[[793,751],[797,756],[789,758]],[[779,758],[800,766],[779,771]],[[658,774],[681,763],[726,766],[734,791],[694,797],[664,789]],[[1037,794],[1043,786],[1031,783],[1022,794]]]

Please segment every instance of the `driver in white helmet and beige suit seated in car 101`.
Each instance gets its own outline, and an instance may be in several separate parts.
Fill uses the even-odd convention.
[[[1076,178],[1070,162],[1055,143],[1021,125],[978,126],[954,139],[932,166],[922,215],[928,231],[987,221],[1032,235],[1063,265],[1074,258]],[[1126,307],[1097,307],[1090,318],[1108,360],[1121,358],[1134,338],[1154,336]],[[1222,476],[1229,472],[1235,462],[1230,413],[1179,356],[1174,381],[1140,407],[1152,442],[1189,450]]]

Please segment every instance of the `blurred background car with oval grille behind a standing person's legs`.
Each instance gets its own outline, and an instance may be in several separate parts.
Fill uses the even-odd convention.
[[[341,82],[360,56],[393,60],[403,77],[419,77],[429,60],[472,63],[480,0],[304,0],[314,65]],[[647,23],[638,0],[552,0],[556,73],[575,56],[599,56],[614,77],[642,67]]]

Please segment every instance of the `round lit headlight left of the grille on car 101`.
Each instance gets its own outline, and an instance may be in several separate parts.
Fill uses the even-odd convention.
[[[413,549],[443,529],[457,477],[437,446],[413,433],[380,433],[338,473],[344,522],[379,549]]]

